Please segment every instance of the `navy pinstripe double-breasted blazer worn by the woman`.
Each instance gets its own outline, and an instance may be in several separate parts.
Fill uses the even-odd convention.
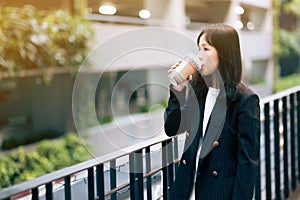
[[[170,88],[165,132],[168,136],[186,134],[170,199],[189,200],[195,184],[199,200],[251,200],[259,170],[258,96],[242,83],[234,95],[219,94],[202,138],[206,94],[196,96],[189,92],[186,97],[185,91]],[[199,141],[202,148],[195,170]]]

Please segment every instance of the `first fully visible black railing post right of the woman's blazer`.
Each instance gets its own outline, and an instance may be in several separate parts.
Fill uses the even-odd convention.
[[[270,103],[264,105],[264,134],[265,134],[265,173],[266,173],[266,200],[272,197],[271,182],[271,141],[270,141]]]

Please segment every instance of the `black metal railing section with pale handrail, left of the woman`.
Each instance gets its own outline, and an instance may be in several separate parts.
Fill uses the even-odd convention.
[[[153,148],[156,150],[152,150]],[[154,154],[156,154],[156,161],[157,159],[161,160],[160,166],[152,165]],[[58,191],[57,188],[54,190],[56,185],[59,185],[60,189],[63,188],[61,198],[78,199],[72,195],[74,191],[72,185],[79,180],[72,181],[72,179],[76,174],[82,172],[87,174],[86,178],[81,179],[86,183],[86,188],[82,188],[87,191],[85,199],[114,200],[117,199],[118,195],[124,195],[125,199],[153,199],[152,182],[157,182],[154,177],[156,179],[162,177],[163,198],[167,199],[174,178],[174,167],[178,162],[173,155],[176,157],[179,155],[178,138],[160,136],[146,145],[135,145],[5,188],[0,191],[0,199],[16,199],[21,193],[31,199],[40,199],[41,196],[47,200],[55,199],[54,194]],[[120,159],[126,159],[125,165],[126,163],[129,165],[127,176],[123,182],[118,181],[118,173],[120,172],[118,168],[120,166],[117,166],[116,163]],[[122,162],[124,163],[124,161]],[[105,170],[108,168],[107,166],[109,169]],[[126,172],[126,169],[124,171]],[[105,177],[108,177],[108,182],[105,181]],[[120,193],[120,191],[123,192]],[[146,194],[144,195],[145,191]],[[126,196],[126,192],[129,193],[128,196]]]

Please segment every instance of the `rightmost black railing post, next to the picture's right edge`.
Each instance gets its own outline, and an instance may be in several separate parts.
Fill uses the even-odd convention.
[[[296,155],[295,155],[295,95],[290,95],[290,127],[291,127],[291,179],[292,179],[292,190],[297,187],[296,180]]]

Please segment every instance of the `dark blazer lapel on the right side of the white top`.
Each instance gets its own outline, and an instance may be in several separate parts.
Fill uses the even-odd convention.
[[[226,97],[219,95],[212,110],[209,124],[203,138],[200,158],[204,158],[213,148],[214,141],[218,140],[226,117]]]

